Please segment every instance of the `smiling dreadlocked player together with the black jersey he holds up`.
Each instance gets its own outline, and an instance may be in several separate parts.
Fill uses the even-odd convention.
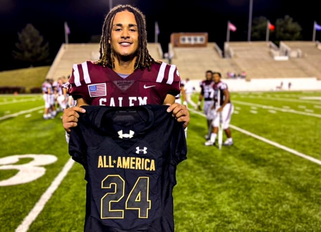
[[[170,152],[173,156],[179,155],[182,157],[181,154],[186,152],[186,140],[182,125],[180,125],[180,131],[183,131],[183,137],[180,137],[181,139],[176,143],[172,140],[170,143],[166,142],[167,137],[175,136],[168,136],[170,133],[167,132],[169,130],[167,126],[169,125],[164,124],[161,125],[160,131],[154,133],[156,136],[149,136],[150,138],[148,138],[148,141],[159,141],[154,144],[156,147],[165,142],[164,147],[159,148],[160,150],[154,151],[153,147],[145,142],[138,141],[130,147],[132,151],[128,149],[130,152],[124,151],[123,158],[119,156],[118,159],[114,160],[111,159],[111,156],[109,158],[105,156],[105,153],[115,155],[118,152],[116,150],[119,149],[116,142],[108,140],[107,145],[105,143],[98,144],[96,150],[92,151],[81,150],[75,146],[72,139],[77,137],[77,135],[75,137],[73,135],[75,131],[78,131],[77,125],[82,123],[78,119],[82,119],[82,115],[85,115],[84,108],[87,108],[86,114],[89,113],[90,108],[87,105],[107,106],[109,108],[126,107],[126,109],[141,105],[168,105],[167,112],[166,107],[164,111],[159,112],[163,112],[162,115],[170,113],[179,123],[183,124],[184,128],[187,128],[190,121],[189,111],[185,106],[175,103],[175,96],[180,92],[180,80],[175,65],[156,61],[148,53],[143,13],[131,5],[118,5],[112,8],[103,25],[100,59],[95,62],[85,61],[81,64],[74,64],[72,67],[68,89],[69,94],[76,100],[77,106],[65,109],[62,116],[63,127],[67,133],[71,133],[70,154],[71,152],[76,153],[76,155],[85,153],[89,157],[92,152],[96,153],[93,157],[87,158],[87,161],[84,159],[85,178],[88,181],[85,231],[174,231],[171,191],[176,184],[175,171],[179,161],[178,159],[169,161],[166,160],[168,158],[162,158],[160,150],[167,149],[166,147],[170,144],[175,149],[172,152],[172,148],[170,148],[167,152]],[[123,110],[120,113],[123,113]],[[116,116],[113,115],[110,117],[111,119],[117,117],[117,112],[114,112],[114,114]],[[102,118],[106,115],[100,115],[100,122],[102,123]],[[144,123],[143,116],[140,115],[141,124]],[[161,117],[161,115],[158,116],[158,118]],[[125,118],[129,121],[133,120],[126,115]],[[158,118],[155,117],[153,120],[156,121]],[[124,121],[124,115],[117,118],[117,120],[119,119],[127,124],[127,121]],[[171,122],[175,123],[175,120],[171,120]],[[104,122],[104,125],[107,123]],[[98,123],[98,125],[101,124]],[[112,126],[117,125],[110,125],[110,127]],[[129,130],[129,133],[126,132],[128,134],[123,134],[123,131],[119,130],[118,133],[122,139],[133,137],[134,132]],[[89,139],[95,142],[94,137]],[[119,138],[117,139],[119,140]],[[82,147],[82,144],[87,144],[87,142],[79,140],[79,147]],[[184,145],[178,148],[177,144]],[[90,163],[86,163],[90,159],[95,159],[96,156],[98,159],[97,152],[100,152],[98,150],[103,146],[107,147],[107,151],[104,150],[105,153],[99,156],[98,168],[97,163],[91,166]],[[155,159],[153,158],[155,156],[158,157],[155,160],[156,166],[154,166],[154,160],[152,160]],[[160,160],[160,157],[163,161]],[[183,158],[179,159],[181,161]],[[157,164],[160,161],[166,163]],[[90,167],[87,169],[86,166],[88,165]],[[102,171],[110,172],[112,175],[110,173],[104,174],[104,178],[101,179],[102,177],[99,175],[102,175]],[[95,174],[92,175],[92,172]],[[158,175],[161,175],[161,178],[156,178],[155,175],[159,172]],[[136,175],[139,175],[139,177],[137,178]],[[149,175],[151,176],[149,177]],[[92,186],[96,186],[96,188]],[[162,192],[161,196],[155,196],[159,195],[159,191]],[[101,192],[103,194],[97,197],[97,194],[101,194]]]

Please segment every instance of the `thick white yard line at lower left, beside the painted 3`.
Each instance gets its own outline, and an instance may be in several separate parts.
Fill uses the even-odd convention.
[[[54,181],[51,183],[51,185],[48,187],[46,192],[42,194],[34,208],[29,212],[29,214],[23,219],[21,224],[17,227],[15,232],[27,232],[30,225],[33,223],[33,221],[36,219],[36,217],[40,214],[40,212],[43,210],[45,204],[47,201],[53,196],[54,191],[59,187],[62,180],[66,177],[69,170],[71,169],[74,161],[70,158],[61,172],[58,174],[58,176],[54,179]]]

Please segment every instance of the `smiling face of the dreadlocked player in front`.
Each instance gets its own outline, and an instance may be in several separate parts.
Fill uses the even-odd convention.
[[[112,21],[111,46],[120,59],[133,58],[138,50],[138,26],[133,13],[118,12]]]

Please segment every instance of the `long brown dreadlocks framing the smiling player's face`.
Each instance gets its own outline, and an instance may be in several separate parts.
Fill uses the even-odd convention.
[[[137,59],[135,62],[134,69],[137,70],[137,69],[147,68],[148,70],[150,70],[151,64],[159,63],[159,61],[155,61],[153,57],[148,53],[145,16],[139,9],[128,4],[117,5],[108,12],[103,25],[103,32],[100,40],[100,50],[99,50],[100,57],[97,64],[102,65],[104,67],[109,67],[111,69],[114,68],[113,49],[111,47],[111,43],[108,40],[110,40],[111,38],[112,21],[115,15],[118,12],[122,12],[122,11],[128,11],[133,13],[137,21],[138,33],[139,33],[139,37],[138,37],[139,47],[136,54]]]

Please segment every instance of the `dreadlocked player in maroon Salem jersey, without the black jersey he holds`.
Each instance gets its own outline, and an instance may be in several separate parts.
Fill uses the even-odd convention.
[[[69,82],[69,94],[77,106],[64,110],[62,121],[67,133],[77,125],[78,112],[84,112],[84,105],[163,104],[169,105],[168,112],[184,127],[190,120],[188,109],[175,103],[180,92],[176,66],[151,57],[145,17],[130,5],[109,11],[103,25],[100,59],[73,65]]]

